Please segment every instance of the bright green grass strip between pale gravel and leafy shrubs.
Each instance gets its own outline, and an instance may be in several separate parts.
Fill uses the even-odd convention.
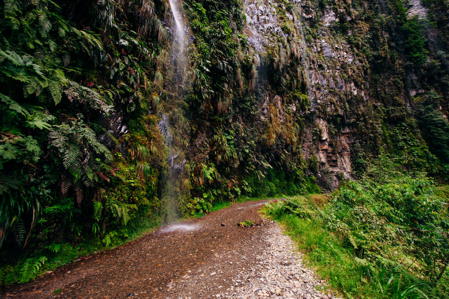
[[[365,263],[320,220],[301,219],[290,214],[273,217],[305,254],[307,266],[325,278],[329,285],[347,298],[418,299],[447,298],[433,284],[409,275],[395,261]],[[425,295],[424,295],[425,294]],[[342,295],[342,294],[341,294]]]

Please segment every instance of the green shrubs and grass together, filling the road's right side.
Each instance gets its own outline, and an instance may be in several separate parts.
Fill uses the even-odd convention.
[[[448,298],[447,186],[382,162],[327,203],[296,196],[266,214],[348,298]]]

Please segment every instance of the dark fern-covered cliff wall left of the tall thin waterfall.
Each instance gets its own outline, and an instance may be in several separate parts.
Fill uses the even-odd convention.
[[[104,248],[107,236],[123,244],[158,219],[163,144],[148,113],[167,31],[158,4],[145,3],[0,4],[2,286]],[[124,159],[135,143],[150,154]]]

